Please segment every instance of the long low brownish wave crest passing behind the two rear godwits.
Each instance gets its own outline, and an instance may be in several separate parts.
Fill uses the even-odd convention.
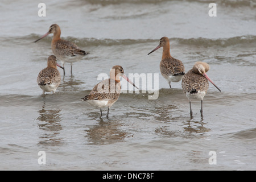
[[[9,42],[9,43],[34,43],[36,39],[38,39],[40,35],[30,34],[27,36],[20,37],[5,37],[0,38],[1,42]],[[69,40],[77,46],[86,47],[86,46],[129,46],[133,44],[145,44],[145,43],[158,43],[159,39],[96,39],[96,38],[74,38],[72,36],[68,36],[63,38],[65,40]],[[21,41],[23,40],[23,41]],[[40,42],[48,42],[51,43],[52,37],[48,36]],[[201,47],[229,47],[236,45],[247,45],[251,44],[256,47],[256,36],[255,35],[244,35],[244,36],[236,36],[233,38],[221,38],[221,39],[208,39],[208,38],[170,38],[171,43],[176,43],[180,45],[188,45],[188,46],[201,46]]]

